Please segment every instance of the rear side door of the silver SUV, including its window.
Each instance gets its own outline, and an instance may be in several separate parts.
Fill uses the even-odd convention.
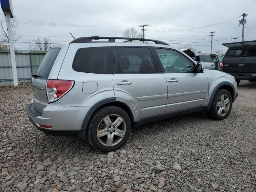
[[[138,120],[164,114],[166,78],[149,47],[116,49],[113,86],[116,100],[126,103]]]

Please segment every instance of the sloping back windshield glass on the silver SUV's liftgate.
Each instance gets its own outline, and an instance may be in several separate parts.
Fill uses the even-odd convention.
[[[42,77],[36,77],[38,79],[48,79],[48,76],[51,72],[52,66],[60,52],[60,48],[52,48],[48,50],[46,55],[44,56],[38,70],[36,71],[36,75]]]

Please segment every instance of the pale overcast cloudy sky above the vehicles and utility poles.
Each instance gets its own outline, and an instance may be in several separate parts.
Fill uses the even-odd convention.
[[[68,43],[82,36],[123,36],[126,28],[145,38],[162,40],[174,48],[196,52],[226,52],[222,43],[242,41],[239,17],[246,13],[244,40],[256,40],[256,0],[12,0],[22,35],[15,48],[28,50],[29,42],[47,36],[50,42]],[[2,19],[2,17],[0,17]],[[234,39],[237,38],[238,39]],[[1,36],[0,36],[1,38]]]

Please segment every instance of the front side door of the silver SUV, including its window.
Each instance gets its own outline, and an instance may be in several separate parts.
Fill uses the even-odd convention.
[[[167,81],[166,114],[206,106],[208,99],[206,75],[194,72],[193,62],[176,50],[163,48],[155,50]]]

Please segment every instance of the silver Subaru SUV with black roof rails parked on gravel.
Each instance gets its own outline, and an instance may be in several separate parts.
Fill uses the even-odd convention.
[[[32,89],[27,112],[36,128],[76,135],[104,152],[123,146],[131,128],[146,122],[199,110],[225,119],[238,96],[233,76],[204,70],[164,42],[98,36],[53,46]]]

